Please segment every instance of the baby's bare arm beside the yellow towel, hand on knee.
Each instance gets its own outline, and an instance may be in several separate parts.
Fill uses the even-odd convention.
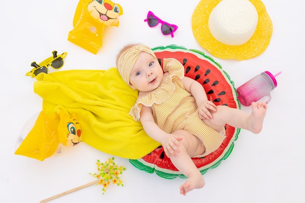
[[[182,138],[175,137],[173,134],[161,130],[153,120],[152,109],[150,107],[142,106],[140,121],[145,132],[152,139],[162,144],[164,152],[168,157],[170,157],[170,155],[176,156],[176,152],[179,153],[177,146],[180,146],[179,140],[182,140]]]

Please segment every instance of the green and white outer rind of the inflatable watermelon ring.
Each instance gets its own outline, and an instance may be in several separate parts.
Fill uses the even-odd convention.
[[[231,80],[231,77],[229,76],[229,74],[227,72],[225,72],[222,69],[222,66],[217,63],[212,57],[205,55],[205,53],[199,51],[199,50],[195,50],[195,49],[187,49],[183,46],[177,46],[174,44],[168,45],[166,47],[164,46],[158,46],[155,48],[152,48],[152,51],[155,50],[165,50],[165,49],[177,49],[177,50],[187,50],[187,51],[191,51],[193,52],[193,54],[199,54],[200,56],[205,57],[206,59],[210,60],[210,62],[214,63],[217,67],[219,67],[219,69],[221,70],[221,72],[225,75],[225,79],[227,80],[227,82],[230,84],[229,86],[232,89],[232,94],[234,96],[234,101],[236,103],[236,106],[241,109],[241,104],[239,102],[239,100],[237,99],[237,92],[236,89],[234,87],[234,82]],[[219,156],[218,159],[216,159],[215,161],[213,161],[212,163],[210,163],[210,165],[206,165],[206,166],[202,166],[200,168],[198,168],[198,170],[201,172],[201,174],[205,174],[209,169],[215,168],[217,166],[219,166],[221,164],[221,162],[223,160],[226,160],[229,155],[231,154],[233,148],[234,148],[234,141],[236,141],[238,139],[238,135],[240,133],[240,129],[236,129],[235,128],[235,137],[234,139],[230,140],[230,143],[228,144],[228,147],[224,149],[225,154],[223,156]],[[155,172],[158,176],[165,178],[165,179],[175,179],[177,177],[179,178],[187,178],[185,175],[181,174],[181,172],[179,171],[173,171],[170,169],[166,169],[166,168],[160,168],[154,164],[151,163],[147,163],[145,162],[145,164],[143,164],[141,161],[145,162],[144,160],[141,159],[130,159],[129,162],[135,166],[136,168],[140,169],[140,170],[144,170],[147,173],[153,173]]]

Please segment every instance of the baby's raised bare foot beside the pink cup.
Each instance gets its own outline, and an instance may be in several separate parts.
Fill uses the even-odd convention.
[[[265,102],[252,102],[252,113],[249,116],[249,129],[253,133],[259,133],[263,128],[267,104]]]

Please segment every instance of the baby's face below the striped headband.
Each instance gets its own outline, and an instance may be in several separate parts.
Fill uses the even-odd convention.
[[[150,92],[161,84],[163,70],[151,54],[141,52],[130,74],[130,87],[140,92]]]

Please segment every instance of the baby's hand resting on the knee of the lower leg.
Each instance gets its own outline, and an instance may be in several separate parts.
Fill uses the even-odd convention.
[[[166,134],[164,136],[163,141],[161,142],[165,154],[170,157],[172,156],[177,156],[176,152],[179,153],[179,140],[182,140],[182,137],[175,137],[173,134]]]

